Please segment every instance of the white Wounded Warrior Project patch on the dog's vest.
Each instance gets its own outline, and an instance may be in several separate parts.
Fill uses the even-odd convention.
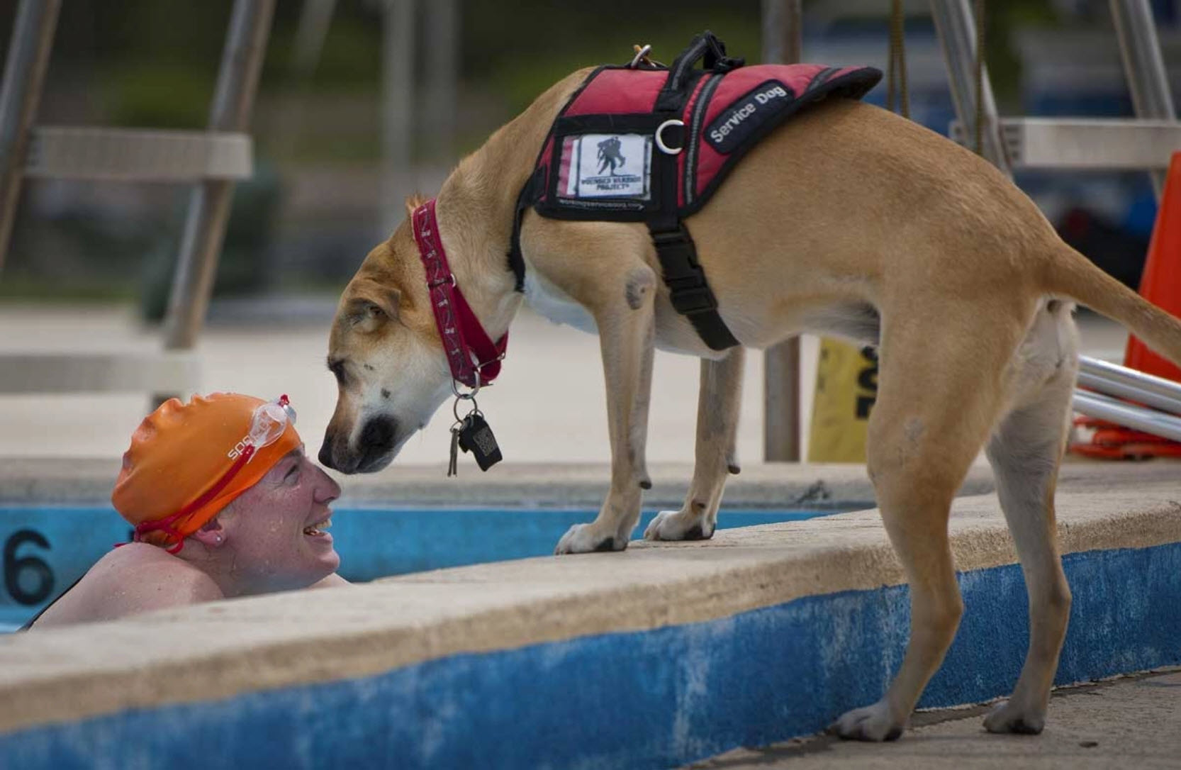
[[[582,133],[568,136],[562,143],[557,181],[562,197],[647,201],[651,181],[651,135]]]

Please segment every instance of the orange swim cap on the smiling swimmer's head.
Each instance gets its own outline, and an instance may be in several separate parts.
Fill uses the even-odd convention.
[[[281,403],[286,405],[286,397]],[[180,550],[185,537],[301,444],[295,420],[286,419],[273,443],[247,450],[243,459],[252,426],[257,425],[255,413],[265,405],[261,398],[237,393],[194,396],[188,404],[170,398],[161,404],[131,435],[111,492],[115,509],[137,527],[149,524],[143,528],[151,530],[142,537],[145,542]],[[174,521],[162,522],[170,517]],[[152,528],[154,522],[167,527]]]

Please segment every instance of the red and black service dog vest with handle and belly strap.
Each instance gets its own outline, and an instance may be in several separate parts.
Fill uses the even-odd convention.
[[[694,68],[697,61],[704,70]],[[713,350],[738,345],[717,313],[681,220],[771,130],[829,96],[861,98],[881,79],[872,67],[743,66],[705,32],[671,67],[606,65],[566,104],[517,201],[510,263],[523,286],[520,220],[646,222],[673,307]]]

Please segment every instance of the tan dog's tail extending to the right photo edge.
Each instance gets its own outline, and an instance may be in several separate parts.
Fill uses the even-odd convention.
[[[1154,351],[1181,366],[1181,319],[1136,294],[1061,241],[1046,267],[1049,269],[1043,273],[1046,293],[1063,294],[1118,321]]]

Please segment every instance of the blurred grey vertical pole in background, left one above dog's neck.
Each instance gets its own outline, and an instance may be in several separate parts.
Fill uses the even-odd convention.
[[[381,239],[403,220],[413,192],[410,157],[415,94],[415,0],[386,0],[381,40]]]

